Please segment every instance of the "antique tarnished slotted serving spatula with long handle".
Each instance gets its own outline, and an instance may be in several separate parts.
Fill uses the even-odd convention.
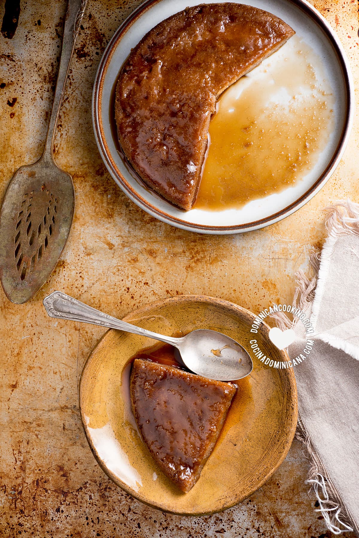
[[[0,214],[0,279],[8,299],[24,303],[54,270],[66,244],[75,209],[70,174],[53,159],[62,96],[87,0],[68,0],[55,96],[44,152],[22,166],[6,190]]]

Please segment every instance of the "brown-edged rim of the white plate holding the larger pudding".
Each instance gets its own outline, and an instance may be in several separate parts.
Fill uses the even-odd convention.
[[[246,224],[236,224],[231,226],[213,226],[207,224],[195,224],[189,223],[188,221],[182,220],[178,217],[173,217],[163,210],[158,209],[153,206],[150,202],[145,200],[140,196],[135,189],[133,189],[130,183],[124,178],[124,176],[119,171],[115,161],[112,159],[111,154],[108,149],[107,141],[104,137],[103,125],[102,125],[102,111],[101,111],[101,101],[102,101],[102,89],[103,81],[107,72],[109,61],[114,53],[115,48],[117,47],[119,41],[121,41],[123,34],[131,27],[131,25],[136,22],[136,20],[143,15],[143,13],[154,4],[161,2],[161,0],[146,0],[143,4],[139,5],[138,8],[133,11],[130,16],[122,23],[121,26],[116,30],[112,38],[110,39],[105,51],[100,60],[100,64],[97,69],[93,97],[92,97],[92,117],[93,117],[93,127],[95,132],[96,143],[98,149],[100,150],[101,157],[110,172],[112,178],[116,181],[117,185],[123,190],[123,192],[143,210],[150,213],[152,216],[158,218],[159,220],[166,222],[167,224],[172,224],[178,228],[182,228],[189,231],[202,232],[202,233],[236,233],[256,230],[258,228],[263,228],[269,224],[273,224],[282,220],[284,217],[291,215],[294,211],[297,211],[305,203],[307,203],[311,198],[319,192],[319,190],[325,185],[325,183],[330,178],[330,175],[334,172],[337,164],[342,157],[342,154],[347,146],[348,138],[350,134],[351,124],[353,123],[354,117],[354,89],[353,81],[351,79],[349,63],[344,54],[342,45],[339,39],[336,37],[333,29],[326,22],[326,20],[320,15],[315,8],[304,0],[286,0],[287,2],[294,4],[297,8],[301,9],[307,16],[311,17],[312,20],[320,27],[320,29],[327,35],[330,43],[332,44],[334,51],[339,60],[343,79],[346,84],[346,120],[342,129],[339,143],[337,144],[336,150],[333,154],[332,159],[330,159],[329,164],[319,176],[319,178],[314,182],[311,188],[309,188],[306,193],[298,198],[295,202],[287,206],[286,208],[274,213],[269,217],[265,217],[258,221],[249,222]]]

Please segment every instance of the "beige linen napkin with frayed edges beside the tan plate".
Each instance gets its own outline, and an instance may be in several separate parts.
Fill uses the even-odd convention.
[[[311,319],[313,349],[294,367],[298,387],[297,436],[311,457],[307,484],[328,529],[359,533],[359,204],[326,210],[328,238],[312,257],[315,277],[297,273],[294,305]],[[279,328],[297,335],[288,347],[303,353],[304,325],[275,314]]]

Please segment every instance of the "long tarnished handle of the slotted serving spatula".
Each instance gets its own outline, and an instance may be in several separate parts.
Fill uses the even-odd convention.
[[[55,88],[54,101],[52,103],[50,122],[48,123],[45,147],[42,157],[52,157],[52,148],[55,138],[56,125],[59,119],[59,112],[64,96],[65,84],[70,68],[70,62],[74,53],[76,39],[79,34],[83,12],[85,11],[87,0],[68,0],[67,12],[64,26],[64,37],[62,38],[62,48],[58,77]]]

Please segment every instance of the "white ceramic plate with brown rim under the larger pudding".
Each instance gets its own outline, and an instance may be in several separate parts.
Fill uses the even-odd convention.
[[[304,206],[325,185],[347,145],[354,114],[354,89],[350,69],[339,39],[326,20],[305,0],[251,0],[246,3],[270,11],[285,20],[313,51],[311,62],[316,79],[330,84],[333,91],[334,129],[315,166],[293,187],[262,199],[252,200],[240,209],[182,211],[153,193],[125,164],[118,151],[114,127],[114,89],[119,70],[140,39],[161,20],[203,0],[149,0],[139,6],[118,28],[107,45],[98,67],[93,91],[93,124],[101,156],[112,178],[139,207],[161,221],[200,233],[237,233],[263,228],[291,215]],[[293,38],[292,38],[293,39]],[[289,40],[274,53],[295,54]],[[287,47],[287,49],[285,49]],[[265,60],[265,61],[268,61]],[[273,63],[273,62],[272,62]],[[270,63],[269,63],[269,69]],[[261,66],[256,68],[261,70]],[[251,76],[256,76],[256,69]]]

